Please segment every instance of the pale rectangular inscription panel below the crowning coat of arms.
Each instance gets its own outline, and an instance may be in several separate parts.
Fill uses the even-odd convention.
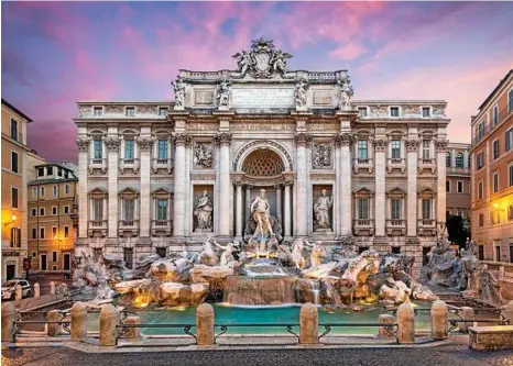
[[[233,108],[294,108],[294,88],[233,88]]]

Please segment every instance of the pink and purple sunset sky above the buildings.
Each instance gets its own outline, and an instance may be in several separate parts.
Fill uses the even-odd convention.
[[[234,68],[263,35],[290,69],[349,70],[354,99],[445,99],[449,138],[513,67],[509,2],[2,2],[2,97],[29,144],[77,160],[76,101],[171,100],[179,68]]]

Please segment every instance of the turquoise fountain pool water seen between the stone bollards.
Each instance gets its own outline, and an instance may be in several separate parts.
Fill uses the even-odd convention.
[[[416,302],[418,309],[429,309],[429,302]],[[233,307],[222,303],[212,304],[216,324],[273,324],[273,323],[299,323],[299,306],[283,307]],[[378,323],[378,318],[383,313],[384,308],[375,304],[364,311],[351,312],[349,310],[326,311],[319,308],[319,323]],[[141,323],[168,323],[168,324],[195,324],[196,307],[179,307],[162,310],[139,311]],[[89,314],[89,331],[98,331],[98,314]],[[429,330],[429,311],[422,311],[415,317],[415,329]],[[298,329],[295,329],[298,331]],[[193,332],[195,329],[193,329]],[[324,328],[319,326],[320,333]],[[219,333],[219,328],[216,333]],[[184,334],[182,329],[142,329],[145,335],[156,334]],[[251,328],[228,328],[227,334],[287,334],[284,328],[277,326],[251,326]],[[332,328],[330,334],[378,334],[378,328]]]

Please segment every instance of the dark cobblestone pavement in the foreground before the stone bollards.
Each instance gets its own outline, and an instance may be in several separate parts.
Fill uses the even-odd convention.
[[[317,366],[393,365],[513,366],[513,352],[472,352],[468,346],[426,348],[360,350],[248,350],[194,352],[81,353],[69,348],[2,350],[2,366],[141,366],[141,365],[222,365],[222,366]]]

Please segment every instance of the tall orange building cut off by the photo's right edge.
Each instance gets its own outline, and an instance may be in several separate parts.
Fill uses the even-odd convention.
[[[513,263],[513,69],[471,126],[472,239],[485,260]]]

